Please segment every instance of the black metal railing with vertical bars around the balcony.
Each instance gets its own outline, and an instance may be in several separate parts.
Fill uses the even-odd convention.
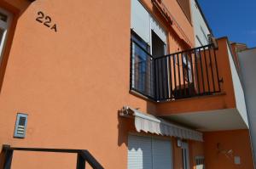
[[[131,39],[131,91],[154,101],[220,93],[213,45],[154,57]]]

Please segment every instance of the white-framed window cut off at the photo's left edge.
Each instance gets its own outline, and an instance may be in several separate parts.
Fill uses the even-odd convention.
[[[0,8],[0,60],[3,56],[12,17],[13,15],[10,14],[7,10]]]

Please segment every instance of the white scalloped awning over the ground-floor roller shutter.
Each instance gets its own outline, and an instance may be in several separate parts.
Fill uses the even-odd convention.
[[[144,114],[129,106],[125,106],[120,113],[122,116],[134,116],[137,132],[151,132],[162,136],[173,136],[195,141],[203,141],[203,134],[187,127],[177,126],[154,115]]]

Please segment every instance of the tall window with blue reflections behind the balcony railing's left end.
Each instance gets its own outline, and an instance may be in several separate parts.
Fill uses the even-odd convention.
[[[131,89],[154,98],[153,59],[147,42],[131,31]]]

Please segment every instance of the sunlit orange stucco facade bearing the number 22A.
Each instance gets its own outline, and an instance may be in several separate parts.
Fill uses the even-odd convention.
[[[150,1],[144,3],[154,13]],[[1,64],[0,144],[89,149],[106,168],[125,168],[132,124],[120,120],[118,110],[131,105],[156,112],[155,104],[129,93],[131,1],[4,0],[0,5],[15,16]],[[177,2],[167,6],[194,42]],[[36,21],[38,11],[56,23],[56,33]],[[184,48],[172,30],[169,45],[170,52]],[[13,138],[18,112],[28,114],[25,139]],[[13,168],[72,168],[75,162],[72,155],[19,152]]]

